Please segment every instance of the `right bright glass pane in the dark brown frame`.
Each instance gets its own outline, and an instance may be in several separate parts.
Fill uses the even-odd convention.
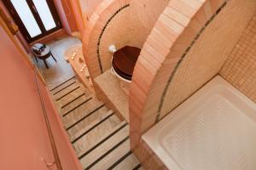
[[[52,14],[49,10],[49,6],[45,0],[32,0],[35,4],[38,14],[40,15],[41,20],[43,21],[44,28],[46,31],[49,31],[56,27],[55,20],[52,17]]]

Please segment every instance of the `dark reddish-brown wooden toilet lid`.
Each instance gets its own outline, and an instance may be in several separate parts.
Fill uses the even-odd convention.
[[[141,52],[140,48],[125,46],[113,54],[113,69],[120,77],[131,80],[137,58]]]

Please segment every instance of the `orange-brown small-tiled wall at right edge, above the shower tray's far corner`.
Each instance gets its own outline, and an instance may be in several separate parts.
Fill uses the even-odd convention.
[[[220,75],[256,102],[256,13],[230,53]]]

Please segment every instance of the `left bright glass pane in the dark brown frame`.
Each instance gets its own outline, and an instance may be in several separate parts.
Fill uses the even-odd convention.
[[[32,15],[32,12],[26,3],[26,0],[11,0],[11,3],[13,3],[15,10],[19,14],[20,19],[26,27],[29,35],[31,37],[36,37],[41,34],[42,32],[38,26],[37,21]]]

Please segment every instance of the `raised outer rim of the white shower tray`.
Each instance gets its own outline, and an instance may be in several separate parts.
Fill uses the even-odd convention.
[[[195,94],[190,96],[189,99],[185,100],[183,104],[179,105],[175,110],[171,111],[162,120],[160,120],[160,122],[158,122],[154,127],[151,127],[146,133],[143,134],[143,141],[148,145],[150,150],[154,152],[159,160],[162,161],[162,163],[165,164],[165,166],[169,169],[183,170],[182,167],[178,166],[177,161],[173,160],[172,157],[168,155],[166,150],[162,148],[160,144],[160,133],[162,133],[161,131],[166,132],[165,128],[170,127],[170,123],[177,123],[178,119],[183,118],[184,113],[186,113],[188,110],[187,108],[185,108],[186,106],[194,106],[198,102],[198,100],[201,100],[206,95],[211,94],[212,91],[216,90],[216,88],[227,88],[228,91],[231,91],[229,93],[236,95],[238,100],[246,102],[246,107],[250,108],[250,110],[256,111],[256,104],[245,94],[241,94],[238,89],[236,89],[229,82],[224,80],[223,77],[219,75],[213,77],[210,82],[200,88]],[[253,111],[250,111],[250,113],[243,113],[250,119],[252,119],[253,122],[256,122],[256,114],[251,114]],[[186,120],[184,120],[183,122],[186,122]]]

